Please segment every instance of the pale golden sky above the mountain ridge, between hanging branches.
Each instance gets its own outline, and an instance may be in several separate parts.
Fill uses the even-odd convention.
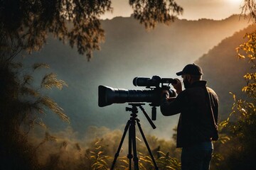
[[[178,18],[198,20],[200,18],[211,18],[221,20],[233,14],[240,14],[244,0],[176,0],[183,7],[183,15]],[[131,16],[132,7],[129,0],[112,0],[113,12],[107,12],[102,19],[111,19],[116,16]]]

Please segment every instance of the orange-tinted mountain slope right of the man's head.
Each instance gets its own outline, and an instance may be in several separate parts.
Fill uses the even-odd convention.
[[[204,78],[214,87],[220,98],[220,113],[223,118],[229,115],[233,104],[233,96],[229,92],[245,98],[241,89],[246,85],[243,76],[251,72],[250,64],[247,60],[238,60],[235,48],[246,41],[246,38],[243,38],[245,33],[252,33],[255,30],[254,24],[225,38],[196,61],[203,69]]]

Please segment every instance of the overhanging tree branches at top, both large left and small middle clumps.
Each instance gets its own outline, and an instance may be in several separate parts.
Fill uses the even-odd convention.
[[[134,18],[146,28],[156,23],[169,23],[183,9],[174,0],[130,0]],[[47,36],[77,47],[78,52],[92,57],[105,38],[100,16],[112,11],[111,0],[1,0],[1,48],[15,46],[28,52],[40,50]],[[16,51],[16,50],[15,50]]]

